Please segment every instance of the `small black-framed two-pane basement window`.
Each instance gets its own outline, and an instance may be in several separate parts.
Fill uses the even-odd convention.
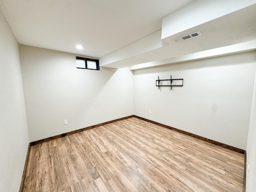
[[[85,57],[76,57],[76,68],[100,70],[99,60]]]

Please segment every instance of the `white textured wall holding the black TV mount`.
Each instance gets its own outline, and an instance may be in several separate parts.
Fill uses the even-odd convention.
[[[246,52],[136,70],[134,114],[246,150],[255,68]],[[184,86],[158,90],[170,75]]]

